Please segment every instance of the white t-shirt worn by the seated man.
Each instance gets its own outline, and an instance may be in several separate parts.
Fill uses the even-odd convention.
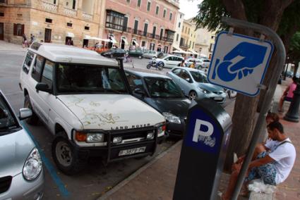
[[[289,138],[285,139],[284,141],[291,142]],[[284,144],[281,144],[282,142],[270,141],[265,144],[265,146],[268,149],[270,149],[271,153],[269,154],[269,156],[276,161],[275,162],[275,169],[277,171],[275,177],[276,185],[280,184],[280,182],[284,182],[284,180],[287,179],[287,176],[291,172],[296,159],[296,149],[294,145],[289,142],[285,142]]]

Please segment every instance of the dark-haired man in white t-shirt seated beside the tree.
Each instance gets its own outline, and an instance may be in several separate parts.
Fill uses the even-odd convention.
[[[287,179],[293,168],[296,150],[287,135],[284,134],[282,124],[278,121],[270,123],[268,125],[268,133],[272,141],[257,146],[255,154],[258,156],[248,166],[248,175],[246,175],[245,184],[251,180],[262,178],[265,184],[278,185]],[[243,161],[244,158],[239,158],[232,165],[229,186],[227,191],[222,195],[222,199],[230,199],[232,197]]]

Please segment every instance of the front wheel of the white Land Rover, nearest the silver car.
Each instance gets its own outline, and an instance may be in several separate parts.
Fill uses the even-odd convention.
[[[85,168],[87,158],[80,159],[78,151],[64,135],[65,132],[60,132],[52,142],[52,156],[59,170],[66,175],[74,175]]]

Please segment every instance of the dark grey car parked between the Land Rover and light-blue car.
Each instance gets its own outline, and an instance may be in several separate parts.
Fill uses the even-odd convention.
[[[184,96],[180,87],[167,76],[125,70],[133,96],[149,104],[164,115],[167,133],[182,137],[188,107],[191,101]]]

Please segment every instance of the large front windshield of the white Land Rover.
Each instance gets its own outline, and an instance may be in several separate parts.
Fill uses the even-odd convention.
[[[56,81],[57,90],[61,93],[128,94],[119,68],[59,63],[56,70]]]

